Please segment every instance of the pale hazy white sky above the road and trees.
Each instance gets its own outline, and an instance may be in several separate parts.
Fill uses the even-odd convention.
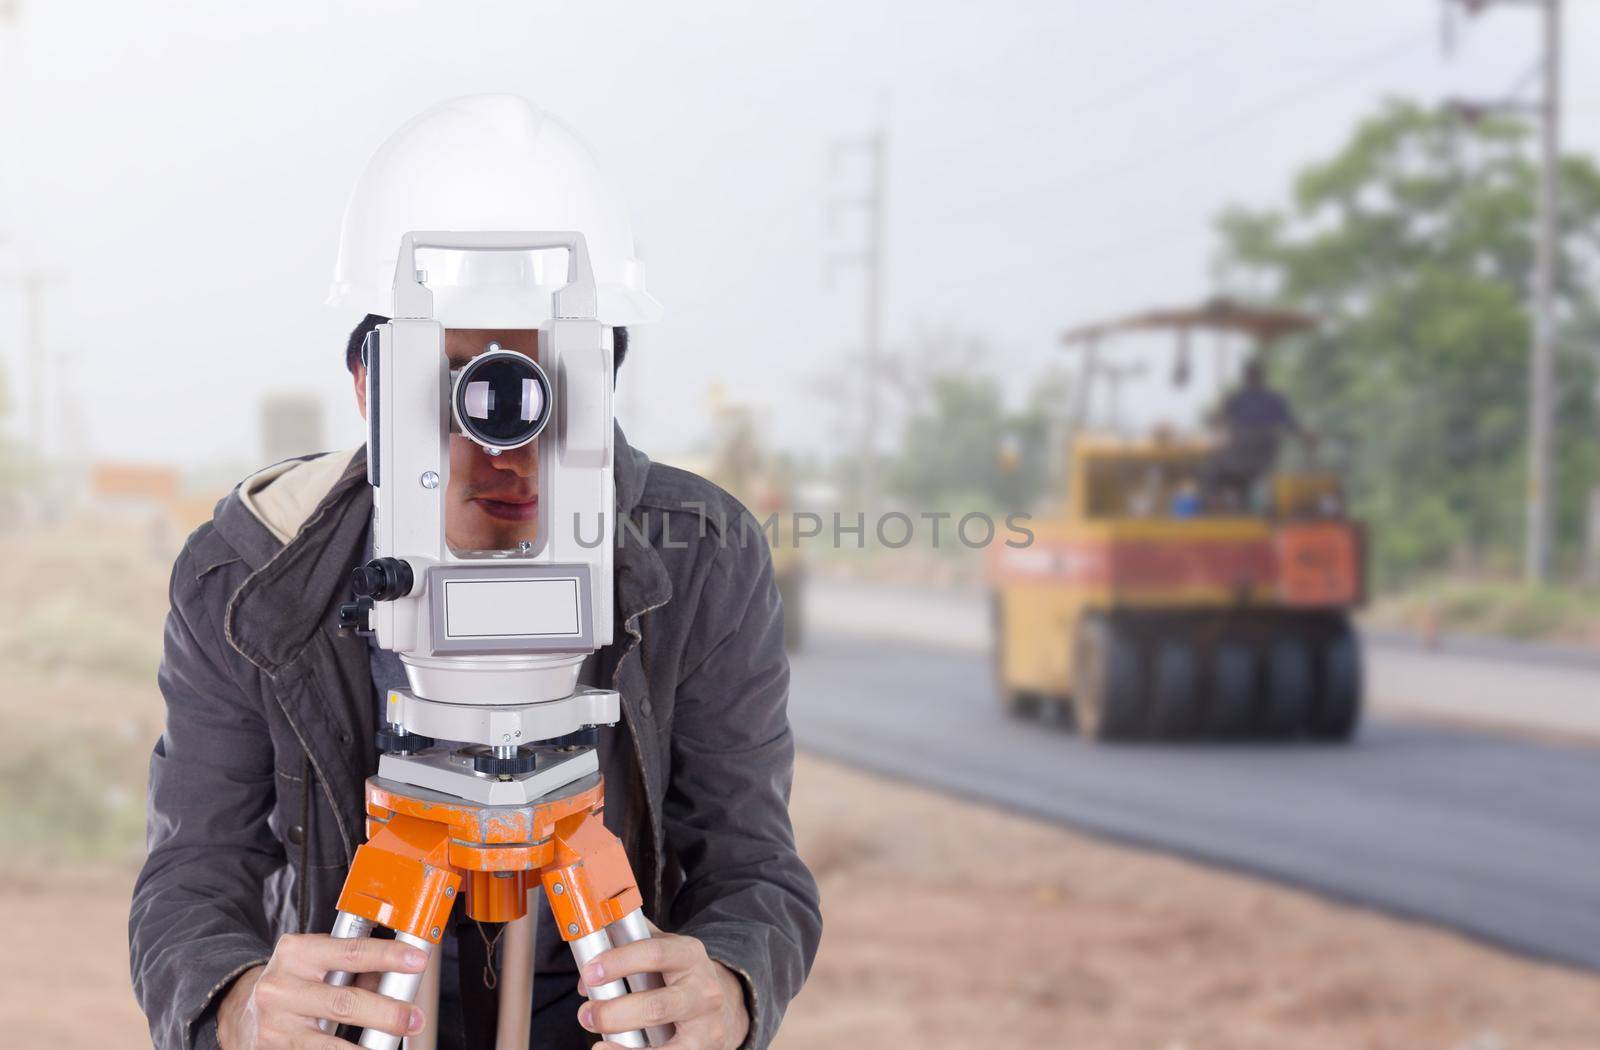
[[[787,448],[848,448],[859,275],[822,274],[858,229],[826,200],[864,173],[830,176],[834,139],[888,128],[888,344],[981,335],[1021,391],[1061,328],[1202,295],[1218,210],[1280,200],[1382,96],[1496,96],[1536,61],[1518,5],[1448,59],[1438,29],[1438,0],[19,0],[0,275],[59,277],[48,407],[93,456],[254,463],[256,397],[291,389],[355,445],[357,319],[323,306],[349,187],[411,114],[515,91],[616,173],[666,304],[622,371],[635,443],[693,445],[715,383]],[[1568,0],[1570,150],[1600,149],[1597,59],[1600,0]],[[0,285],[13,431],[24,338]]]

